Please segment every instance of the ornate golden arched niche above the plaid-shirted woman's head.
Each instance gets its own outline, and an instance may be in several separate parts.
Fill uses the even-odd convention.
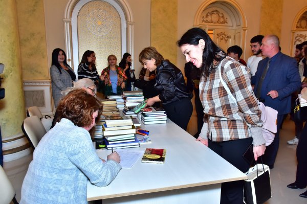
[[[218,46],[227,51],[233,45],[245,50],[246,25],[243,10],[235,1],[210,0],[196,11],[193,27],[204,29]]]

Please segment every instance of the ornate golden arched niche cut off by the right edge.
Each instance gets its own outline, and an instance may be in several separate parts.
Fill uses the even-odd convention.
[[[295,16],[291,30],[290,55],[294,56],[295,46],[307,40],[307,6]]]

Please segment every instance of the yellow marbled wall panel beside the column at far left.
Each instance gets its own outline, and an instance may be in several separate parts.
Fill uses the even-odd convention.
[[[23,79],[48,79],[43,2],[20,0],[16,8]]]

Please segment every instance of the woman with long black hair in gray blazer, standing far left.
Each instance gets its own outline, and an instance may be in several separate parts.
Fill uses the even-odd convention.
[[[76,81],[76,75],[67,64],[66,54],[62,49],[56,48],[52,52],[50,76],[54,106],[57,107],[62,97],[62,90],[72,87],[72,81]]]

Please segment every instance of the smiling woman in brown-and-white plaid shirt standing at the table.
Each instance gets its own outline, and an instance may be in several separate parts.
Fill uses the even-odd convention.
[[[253,143],[255,160],[266,149],[261,132],[261,111],[252,94],[248,68],[227,57],[200,28],[188,30],[178,41],[178,46],[186,61],[201,69],[199,88],[205,116],[196,141],[208,146],[240,171],[247,172],[250,164],[242,156],[246,149]],[[236,98],[236,104],[221,80]],[[243,180],[222,183],[221,203],[243,203]]]

